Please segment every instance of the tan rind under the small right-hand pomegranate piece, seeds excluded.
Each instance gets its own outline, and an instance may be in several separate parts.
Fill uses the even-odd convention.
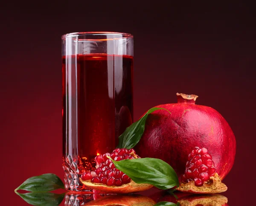
[[[204,182],[202,186],[195,186],[195,181],[192,180],[189,183],[181,183],[177,190],[192,194],[212,194],[227,191],[227,186],[221,183],[220,177],[215,173],[215,175],[210,177],[207,182]]]

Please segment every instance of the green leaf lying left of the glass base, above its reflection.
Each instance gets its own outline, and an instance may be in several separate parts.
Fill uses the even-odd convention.
[[[20,189],[32,192],[46,192],[65,188],[63,182],[56,174],[42,174],[25,180],[15,191]]]

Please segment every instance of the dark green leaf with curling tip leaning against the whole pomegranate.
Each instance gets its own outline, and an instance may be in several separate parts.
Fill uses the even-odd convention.
[[[126,128],[124,133],[122,133],[119,136],[119,144],[117,145],[117,148],[131,149],[135,145],[137,145],[137,143],[140,141],[141,136],[144,133],[145,122],[148,117],[148,114],[156,110],[166,110],[166,109],[153,107],[150,110],[148,110],[148,112],[145,113],[145,115],[142,118],[140,118],[137,122],[134,122],[133,124],[131,124],[128,128]]]

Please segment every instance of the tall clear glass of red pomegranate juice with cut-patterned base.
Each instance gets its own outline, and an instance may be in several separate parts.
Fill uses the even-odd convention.
[[[133,121],[133,36],[79,32],[62,36],[65,188],[88,191],[79,177],[112,152]]]

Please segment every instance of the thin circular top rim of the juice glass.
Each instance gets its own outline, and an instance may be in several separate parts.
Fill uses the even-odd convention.
[[[72,32],[72,33],[67,33],[62,35],[61,39],[64,39],[67,37],[77,37],[77,36],[86,36],[86,35],[119,35],[119,36],[133,38],[132,34],[121,33],[121,32]]]

